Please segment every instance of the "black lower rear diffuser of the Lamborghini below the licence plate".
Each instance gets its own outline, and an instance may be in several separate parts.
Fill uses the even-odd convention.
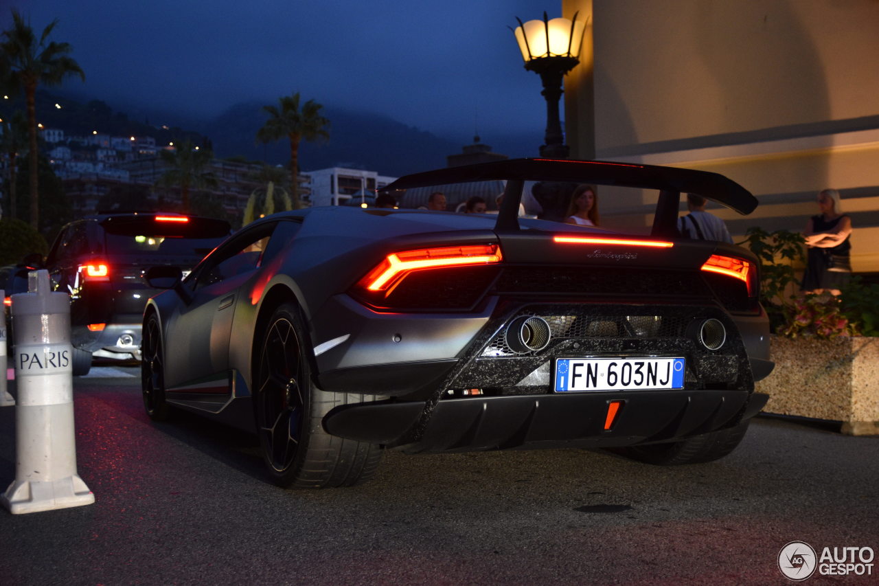
[[[334,436],[410,453],[616,447],[698,436],[758,414],[768,396],[746,391],[642,391],[375,402],[337,407]],[[604,429],[611,400],[623,405]]]

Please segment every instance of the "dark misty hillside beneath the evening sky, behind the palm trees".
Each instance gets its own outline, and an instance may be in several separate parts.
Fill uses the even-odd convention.
[[[54,107],[56,102],[62,104],[61,109]],[[46,128],[62,128],[69,136],[98,130],[112,136],[151,135],[158,144],[189,138],[195,144],[209,141],[220,158],[244,157],[286,165],[290,157],[286,141],[258,144],[255,139],[267,117],[262,106],[272,103],[271,99],[240,103],[214,118],[199,120],[140,106],[110,106],[75,92],[39,92],[38,114]],[[11,110],[11,106],[17,107],[10,105],[4,110]],[[344,166],[400,176],[444,167],[447,155],[460,153],[465,144],[473,141],[473,136],[436,136],[381,114],[335,106],[324,107],[323,115],[331,122],[330,139],[301,143],[302,171]],[[540,131],[504,136],[483,134],[482,142],[509,157],[533,157],[541,138]]]

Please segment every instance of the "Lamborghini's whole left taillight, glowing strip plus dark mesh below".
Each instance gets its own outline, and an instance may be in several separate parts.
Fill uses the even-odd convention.
[[[391,253],[354,286],[355,297],[381,310],[462,310],[497,275],[500,246],[460,245]]]

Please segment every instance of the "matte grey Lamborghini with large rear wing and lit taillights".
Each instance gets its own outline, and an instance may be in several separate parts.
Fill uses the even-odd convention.
[[[149,416],[253,430],[272,479],[295,487],[366,480],[386,449],[611,448],[673,465],[737,446],[773,368],[757,259],[676,222],[682,193],[741,214],[752,194],[714,173],[543,159],[389,188],[464,183],[504,186],[497,215],[302,209],[245,226],[182,280],[150,269],[169,289],[143,315]],[[579,183],[652,221],[519,217],[526,186]]]

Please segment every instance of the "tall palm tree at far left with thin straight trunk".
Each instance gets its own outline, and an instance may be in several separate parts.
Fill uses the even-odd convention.
[[[73,50],[69,43],[49,41],[55,19],[43,29],[38,40],[30,25],[25,23],[21,14],[12,9],[12,27],[3,32],[0,43],[0,70],[6,70],[12,83],[25,91],[27,104],[27,127],[30,152],[30,197],[31,225],[39,229],[40,202],[37,179],[37,109],[36,93],[40,84],[60,85],[65,77],[79,76],[85,81],[85,74],[79,64],[69,56]]]

